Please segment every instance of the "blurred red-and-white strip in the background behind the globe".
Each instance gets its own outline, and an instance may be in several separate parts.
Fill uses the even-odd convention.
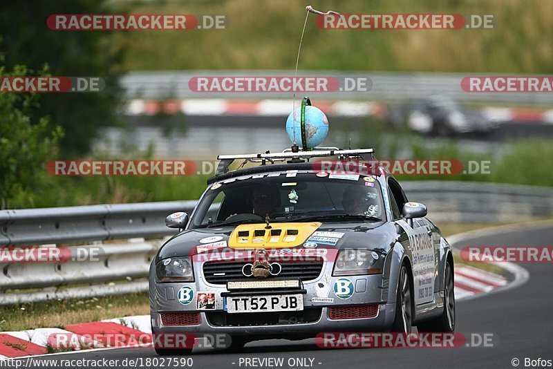
[[[288,116],[301,100],[229,100],[229,99],[186,99],[186,100],[129,100],[122,113],[125,115],[155,115],[159,113],[186,115],[254,115]],[[336,117],[367,117],[386,115],[386,105],[379,102],[345,100],[339,102],[317,101],[315,106],[328,115]],[[536,122],[553,124],[553,109],[540,108],[501,108],[482,109],[490,120],[497,122]]]

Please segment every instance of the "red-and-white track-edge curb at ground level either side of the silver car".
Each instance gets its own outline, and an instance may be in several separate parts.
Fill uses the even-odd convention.
[[[454,280],[455,298],[458,301],[489,293],[507,284],[505,278],[498,274],[465,265],[456,267]],[[152,339],[149,315],[72,324],[63,329],[38,328],[21,332],[0,332],[0,359],[48,354],[48,344],[55,347],[55,343],[51,342],[53,335],[66,339],[66,346],[75,351],[102,350],[102,347],[104,350],[149,347]],[[108,347],[113,342],[113,337],[118,337],[118,345]],[[137,337],[140,337],[140,343]],[[86,348],[82,348],[83,342],[87,343]]]

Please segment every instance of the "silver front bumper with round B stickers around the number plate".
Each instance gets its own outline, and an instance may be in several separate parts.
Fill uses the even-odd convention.
[[[228,334],[231,336],[248,336],[250,339],[263,338],[290,338],[303,339],[315,337],[321,332],[371,332],[387,330],[391,327],[395,317],[395,301],[388,303],[388,279],[383,274],[364,276],[331,276],[332,263],[325,263],[321,274],[312,281],[303,283],[303,311],[317,311],[317,316],[312,319],[298,319],[294,323],[259,323],[253,319],[248,323],[247,319],[241,325],[234,323],[214,322],[214,314],[219,316],[227,314],[237,316],[241,314],[228,314],[225,312],[223,296],[228,292],[226,285],[208,283],[200,272],[201,265],[194,265],[196,281],[191,283],[156,283],[150,278],[151,300],[151,324],[154,333],[163,334]],[[354,291],[348,298],[340,298],[335,293],[335,283],[339,279],[351,281]],[[186,305],[178,301],[178,291],[182,287],[189,287],[194,291],[194,299]],[[197,298],[199,293],[208,292],[215,294],[214,310],[198,310]],[[275,291],[274,294],[279,294]],[[247,292],[244,295],[255,296],[255,292]],[[342,296],[343,297],[343,296]],[[313,298],[332,299],[332,302],[312,301]],[[330,308],[346,306],[378,305],[378,312],[369,318],[355,319],[330,319]],[[200,323],[196,325],[165,325],[161,314],[179,312],[198,312]],[[291,312],[290,312],[291,313]],[[250,316],[265,313],[245,313]],[[293,314],[292,314],[293,315]]]

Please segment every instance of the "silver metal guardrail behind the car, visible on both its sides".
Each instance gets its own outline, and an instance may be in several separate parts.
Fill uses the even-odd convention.
[[[429,218],[438,225],[553,214],[553,189],[547,187],[404,181],[403,188],[409,200],[429,207]],[[0,263],[0,305],[146,291],[144,278],[162,240],[109,240],[170,236],[175,231],[165,227],[165,217],[174,211],[191,211],[195,204],[171,201],[0,211],[0,247],[95,241],[84,248],[102,249],[94,261]]]

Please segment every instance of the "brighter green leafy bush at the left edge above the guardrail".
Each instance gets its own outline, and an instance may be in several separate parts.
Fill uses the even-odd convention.
[[[0,65],[3,77],[31,74],[25,66],[6,73]],[[59,126],[52,129],[46,117],[32,124],[38,99],[36,93],[0,93],[0,209],[32,206],[37,193],[54,184],[54,178],[46,173],[46,162],[58,155],[63,130]]]

